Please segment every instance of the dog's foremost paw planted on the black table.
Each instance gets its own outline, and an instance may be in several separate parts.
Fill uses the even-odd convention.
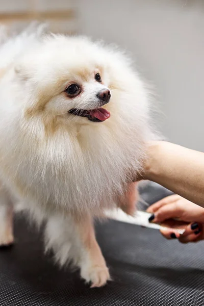
[[[91,288],[103,287],[111,280],[109,269],[106,266],[91,266],[81,269],[81,277],[86,283],[91,283]]]

